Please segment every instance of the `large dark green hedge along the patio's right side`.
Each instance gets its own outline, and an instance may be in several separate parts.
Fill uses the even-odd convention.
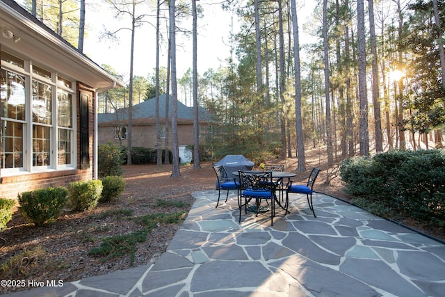
[[[341,179],[351,195],[391,205],[405,217],[445,227],[445,151],[390,150],[347,159]]]

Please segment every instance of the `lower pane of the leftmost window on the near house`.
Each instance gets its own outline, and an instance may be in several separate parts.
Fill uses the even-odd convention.
[[[23,167],[23,124],[21,122],[2,122],[3,153],[1,168]]]

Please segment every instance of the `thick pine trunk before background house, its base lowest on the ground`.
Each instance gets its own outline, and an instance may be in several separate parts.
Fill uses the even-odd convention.
[[[176,22],[175,22],[175,0],[170,0],[170,45],[171,45],[171,70],[172,70],[172,155],[173,166],[171,177],[179,177],[179,143],[178,143],[178,92],[176,75]]]

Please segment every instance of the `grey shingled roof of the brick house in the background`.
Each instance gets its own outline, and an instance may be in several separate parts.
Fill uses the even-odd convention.
[[[165,119],[165,98],[167,95],[163,94],[159,96],[159,118]],[[193,107],[188,107],[178,103],[178,122],[193,122]],[[156,120],[156,99],[151,98],[140,104],[133,105],[132,108],[133,117],[132,121],[134,124],[155,122]],[[168,102],[168,116],[172,116],[172,97],[169,97]],[[205,109],[200,107],[198,109],[198,118],[200,122],[211,122],[211,114]],[[128,109],[118,109],[116,113],[99,113],[97,115],[97,122],[99,124],[114,123],[116,121],[127,121],[128,120]]]

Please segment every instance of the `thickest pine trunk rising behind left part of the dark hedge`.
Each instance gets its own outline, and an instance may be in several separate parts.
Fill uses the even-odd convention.
[[[366,40],[364,34],[364,3],[357,0],[357,39],[359,48],[360,156],[369,155],[368,97],[366,92]]]

